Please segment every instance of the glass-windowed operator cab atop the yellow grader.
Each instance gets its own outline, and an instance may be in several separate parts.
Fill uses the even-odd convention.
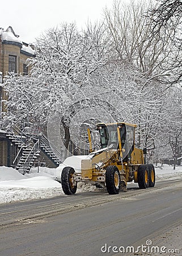
[[[117,127],[120,131],[121,148],[123,159],[130,158],[130,155],[134,148],[134,133],[136,125],[129,123],[99,123],[97,130],[100,134],[101,148],[111,148],[118,150],[119,141]]]

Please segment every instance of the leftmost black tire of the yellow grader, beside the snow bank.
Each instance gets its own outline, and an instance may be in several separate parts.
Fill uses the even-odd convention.
[[[62,190],[66,195],[74,195],[77,191],[77,183],[73,183],[73,174],[75,170],[72,167],[65,167],[61,174]]]

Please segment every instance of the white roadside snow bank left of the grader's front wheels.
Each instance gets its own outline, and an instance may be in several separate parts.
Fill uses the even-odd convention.
[[[22,175],[17,170],[0,167],[0,203],[43,199],[64,195],[61,184],[54,180],[55,169],[39,168]]]

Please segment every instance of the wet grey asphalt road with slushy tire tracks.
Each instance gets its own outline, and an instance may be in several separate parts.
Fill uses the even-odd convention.
[[[149,189],[129,185],[119,195],[83,192],[3,204],[0,255],[126,255],[118,249],[137,249],[181,223],[181,198],[182,180],[173,180]]]

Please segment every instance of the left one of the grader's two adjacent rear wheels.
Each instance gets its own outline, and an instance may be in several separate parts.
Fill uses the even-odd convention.
[[[149,170],[146,164],[138,167],[137,179],[139,188],[149,188]]]

